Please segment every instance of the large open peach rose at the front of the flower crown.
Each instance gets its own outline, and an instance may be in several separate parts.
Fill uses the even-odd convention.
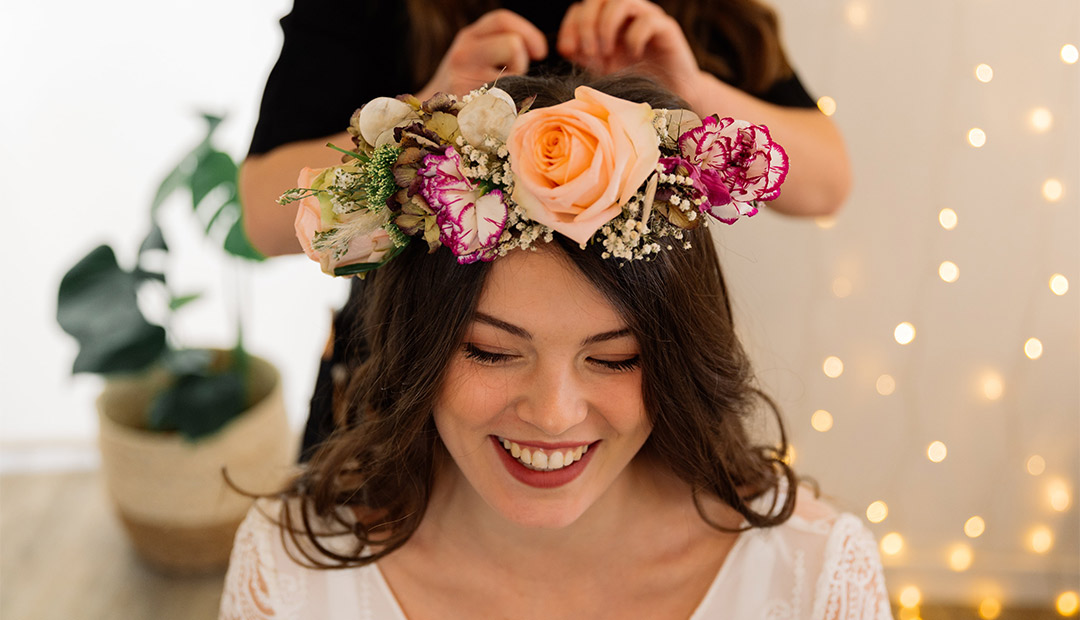
[[[652,108],[578,86],[575,98],[517,117],[507,141],[514,202],[529,219],[585,243],[652,174]]]

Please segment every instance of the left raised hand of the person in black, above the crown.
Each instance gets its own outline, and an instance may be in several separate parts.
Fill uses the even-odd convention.
[[[505,9],[485,13],[454,38],[421,99],[436,92],[463,95],[499,76],[522,75],[548,56],[548,41],[531,22]]]

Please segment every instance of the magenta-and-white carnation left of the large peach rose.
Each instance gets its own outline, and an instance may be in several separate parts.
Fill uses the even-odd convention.
[[[468,265],[492,260],[509,213],[501,190],[483,193],[461,172],[461,156],[447,147],[443,154],[423,158],[419,171],[420,196],[435,212],[440,241]]]

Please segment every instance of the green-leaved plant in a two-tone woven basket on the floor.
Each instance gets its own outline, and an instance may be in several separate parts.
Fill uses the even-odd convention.
[[[265,490],[294,459],[281,379],[243,346],[185,348],[168,326],[199,295],[170,287],[160,207],[188,191],[207,235],[244,260],[262,257],[247,242],[237,193],[237,164],[214,148],[219,118],[165,177],[150,205],[150,230],[134,266],[100,245],[60,282],[57,321],[79,343],[73,373],[105,377],[97,400],[106,487],[139,556],[170,572],[215,570],[228,563],[232,537],[251,499],[226,483]],[[140,309],[157,293],[153,322]],[[149,295],[147,295],[149,294]]]

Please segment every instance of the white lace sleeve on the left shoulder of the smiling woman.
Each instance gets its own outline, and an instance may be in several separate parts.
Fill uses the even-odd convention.
[[[280,530],[266,507],[248,511],[237,538],[225,576],[218,620],[299,620],[303,574],[281,575],[272,549]]]

